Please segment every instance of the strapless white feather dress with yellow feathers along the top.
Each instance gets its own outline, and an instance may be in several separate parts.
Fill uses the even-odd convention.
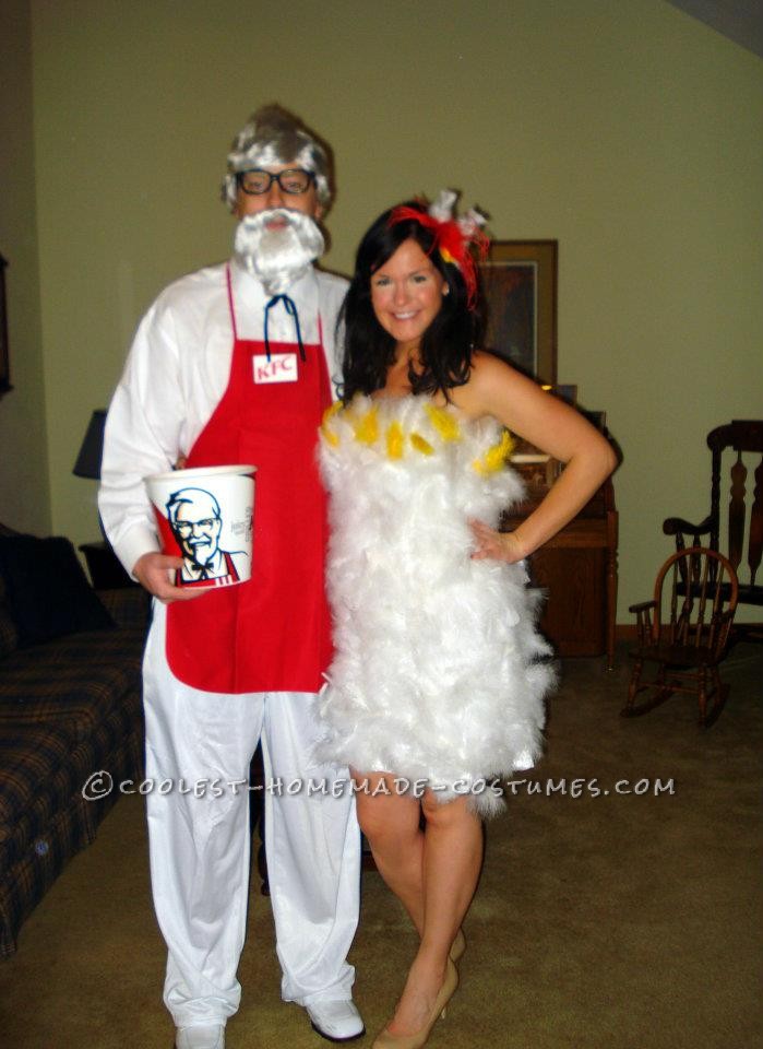
[[[336,404],[321,433],[335,656],[319,757],[480,815],[501,808],[490,779],[537,758],[553,680],[524,566],[469,556],[468,520],[496,527],[522,496],[506,450],[494,420],[413,394]]]

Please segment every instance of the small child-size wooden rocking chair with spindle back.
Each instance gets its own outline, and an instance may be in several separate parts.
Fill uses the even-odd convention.
[[[637,647],[630,653],[634,664],[623,717],[646,714],[673,692],[688,692],[698,697],[700,724],[707,728],[716,720],[728,695],[718,663],[738,594],[737,574],[717,551],[691,546],[668,557],[659,569],[654,599],[630,608],[636,615]],[[657,663],[648,682],[641,680],[645,662]],[[636,704],[644,691],[651,695]]]

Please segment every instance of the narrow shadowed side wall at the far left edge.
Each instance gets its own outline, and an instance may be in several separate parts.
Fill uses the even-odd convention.
[[[39,322],[32,44],[27,0],[0,3],[0,254],[8,260],[11,382],[0,400],[0,521],[50,530]]]

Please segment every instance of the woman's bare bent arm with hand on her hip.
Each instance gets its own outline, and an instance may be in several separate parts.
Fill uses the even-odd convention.
[[[476,353],[469,381],[452,391],[473,419],[492,415],[513,434],[565,463],[540,505],[513,532],[475,521],[474,556],[521,561],[556,535],[609,476],[617,458],[608,441],[574,409],[487,353]]]

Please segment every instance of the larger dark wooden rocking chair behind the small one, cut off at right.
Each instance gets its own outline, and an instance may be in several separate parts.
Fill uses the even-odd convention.
[[[739,579],[739,603],[763,608],[763,581],[758,575],[763,552],[763,420],[717,426],[707,434],[707,446],[712,452],[710,514],[699,524],[668,517],[663,531],[676,538],[677,551],[704,545],[725,554]],[[759,624],[737,623],[732,639],[741,638],[763,640],[763,629]]]

